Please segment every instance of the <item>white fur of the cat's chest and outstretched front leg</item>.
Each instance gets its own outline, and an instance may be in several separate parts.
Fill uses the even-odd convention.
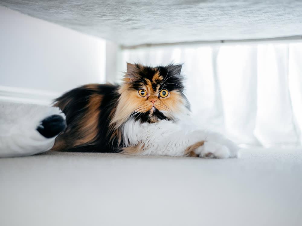
[[[217,146],[212,145],[213,142],[219,144],[219,148],[221,145],[227,146],[230,153],[223,157],[236,156],[238,149],[232,141],[221,134],[198,130],[190,121],[163,120],[150,124],[131,119],[124,125],[123,136],[126,146],[143,144],[142,155],[182,156],[188,146],[200,141],[211,142],[211,145],[209,143],[206,145],[210,149],[217,149]]]

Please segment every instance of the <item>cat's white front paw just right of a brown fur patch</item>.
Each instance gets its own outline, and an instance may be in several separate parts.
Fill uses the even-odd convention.
[[[208,159],[227,159],[232,157],[230,149],[227,146],[211,141],[204,142],[204,145],[194,151],[201,158]]]

